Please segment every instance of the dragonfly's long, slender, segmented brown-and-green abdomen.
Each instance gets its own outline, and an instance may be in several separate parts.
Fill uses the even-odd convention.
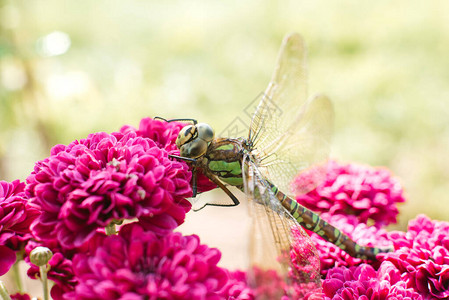
[[[358,245],[339,229],[324,221],[318,214],[288,197],[279,191],[273,184],[270,185],[276,198],[282,203],[282,206],[290,212],[293,218],[295,218],[301,226],[315,232],[323,239],[331,242],[352,257],[375,260],[377,254],[391,251],[391,249],[380,249]]]

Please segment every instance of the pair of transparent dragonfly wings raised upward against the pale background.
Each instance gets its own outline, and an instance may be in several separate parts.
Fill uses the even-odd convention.
[[[307,100],[304,44],[297,34],[287,36],[251,121],[249,139],[262,175],[291,196],[316,187],[325,175],[333,120],[328,98]],[[304,170],[310,171],[307,181],[293,184]]]

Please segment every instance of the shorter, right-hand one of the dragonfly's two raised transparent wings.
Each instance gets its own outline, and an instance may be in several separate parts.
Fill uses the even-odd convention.
[[[332,104],[324,96],[307,102],[285,131],[266,124],[254,141],[263,176],[290,196],[315,188],[326,174],[332,124]],[[306,180],[293,182],[305,170]]]

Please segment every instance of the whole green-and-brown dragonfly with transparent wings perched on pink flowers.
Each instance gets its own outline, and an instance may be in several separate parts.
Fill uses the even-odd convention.
[[[179,156],[172,157],[191,163],[195,174],[200,170],[229,196],[226,200],[209,199],[199,209],[236,206],[240,202],[228,186],[243,191],[253,220],[251,264],[276,270],[288,282],[302,284],[302,293],[317,290],[321,284],[319,257],[304,228],[357,258],[373,260],[388,251],[358,245],[294,200],[295,195],[309,192],[324,179],[333,133],[331,101],[324,95],[309,98],[306,81],[306,48],[302,37],[293,33],[283,40],[247,137],[216,138],[208,124],[169,120],[191,121],[176,139]],[[293,184],[295,177],[305,172],[305,180]],[[193,176],[194,196],[196,193]]]

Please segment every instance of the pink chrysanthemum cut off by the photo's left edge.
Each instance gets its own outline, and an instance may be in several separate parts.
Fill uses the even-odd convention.
[[[0,275],[16,261],[15,251],[31,239],[30,224],[39,214],[25,199],[24,187],[19,180],[0,181]]]

